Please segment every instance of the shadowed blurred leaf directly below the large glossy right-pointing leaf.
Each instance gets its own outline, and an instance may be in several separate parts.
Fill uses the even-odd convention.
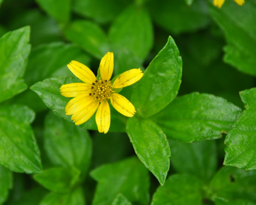
[[[207,183],[217,169],[217,148],[214,140],[184,143],[169,140],[171,163],[179,173],[191,174]]]

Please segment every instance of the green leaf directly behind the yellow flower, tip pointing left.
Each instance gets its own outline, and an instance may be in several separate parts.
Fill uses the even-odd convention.
[[[44,81],[34,84],[30,89],[35,91],[39,97],[44,101],[44,103],[49,107],[53,112],[60,116],[61,118],[68,120],[68,122],[73,123],[71,116],[65,114],[65,107],[71,98],[64,97],[60,94],[60,87],[64,84],[81,82],[77,78],[67,77],[67,78],[49,78]],[[111,108],[111,122],[113,125],[110,126],[109,132],[124,132],[124,125],[126,122],[126,117],[113,111],[114,108]],[[80,125],[85,129],[98,130],[95,115],[92,116],[87,122]]]

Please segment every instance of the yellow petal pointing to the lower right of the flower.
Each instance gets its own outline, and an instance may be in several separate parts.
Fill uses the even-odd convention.
[[[132,117],[136,112],[133,104],[122,95],[113,93],[110,101],[113,107],[124,116]]]

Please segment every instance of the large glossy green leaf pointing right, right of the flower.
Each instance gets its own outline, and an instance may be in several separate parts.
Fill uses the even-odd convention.
[[[183,142],[212,140],[231,130],[241,109],[210,94],[191,93],[177,97],[152,117],[167,137]]]

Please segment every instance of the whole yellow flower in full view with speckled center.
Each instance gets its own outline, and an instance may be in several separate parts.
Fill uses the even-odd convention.
[[[110,78],[114,69],[114,54],[108,52],[100,61],[100,79],[97,80],[93,72],[84,64],[71,61],[69,70],[84,83],[70,83],[60,87],[61,95],[74,97],[66,105],[66,115],[76,125],[89,120],[96,112],[96,124],[100,133],[107,133],[110,127],[110,99],[113,107],[127,117],[132,117],[136,110],[132,103],[124,96],[115,93],[113,89],[122,88],[140,80],[143,76],[140,68],[131,69],[120,74],[111,84]]]

